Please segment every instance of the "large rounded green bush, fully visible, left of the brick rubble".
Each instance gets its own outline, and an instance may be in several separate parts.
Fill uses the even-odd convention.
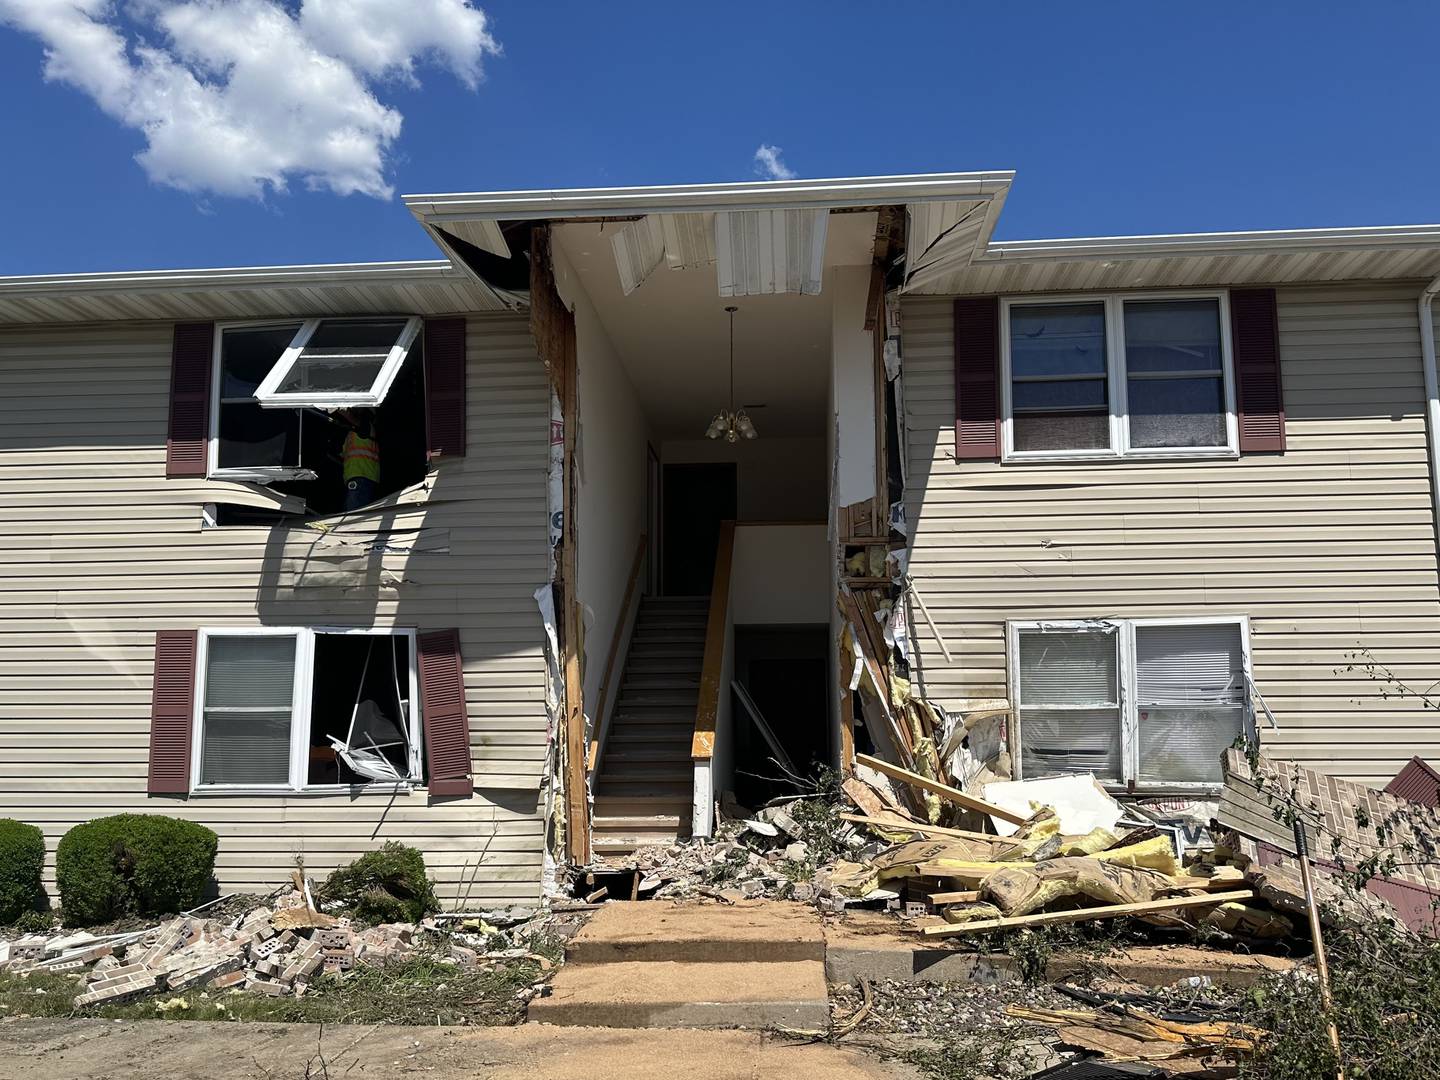
[[[200,903],[220,838],[204,825],[160,814],[95,818],[55,848],[65,920],[94,926],[124,914],[173,914]]]

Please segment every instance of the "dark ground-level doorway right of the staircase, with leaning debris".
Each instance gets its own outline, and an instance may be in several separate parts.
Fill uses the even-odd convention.
[[[829,765],[829,628],[736,626],[734,678],[791,759],[798,776]],[[793,795],[765,736],[739,700],[730,703],[734,732],[734,793],[743,805]]]

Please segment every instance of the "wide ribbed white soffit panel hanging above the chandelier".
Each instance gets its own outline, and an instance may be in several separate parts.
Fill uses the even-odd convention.
[[[723,210],[716,215],[721,297],[818,295],[829,210]]]

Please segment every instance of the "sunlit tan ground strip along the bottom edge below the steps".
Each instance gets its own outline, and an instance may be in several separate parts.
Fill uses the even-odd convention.
[[[0,1021],[0,1080],[913,1080],[858,1050],[753,1031]]]

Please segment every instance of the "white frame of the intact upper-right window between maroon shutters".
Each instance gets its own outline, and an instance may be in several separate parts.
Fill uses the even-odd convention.
[[[1125,304],[1146,300],[1215,300],[1220,302],[1220,364],[1224,384],[1224,446],[1130,446],[1129,379],[1125,370]],[[1040,304],[1103,304],[1106,400],[1110,406],[1110,446],[1107,449],[1017,451],[1014,425],[1014,386],[1009,357],[1009,311]],[[1002,297],[999,302],[1001,356],[1001,461],[1120,461],[1120,459],[1212,459],[1240,456],[1240,420],[1236,413],[1236,364],[1230,341],[1230,292],[1227,289],[1184,289],[1158,292],[1076,292],[1063,295],[1030,294]]]

